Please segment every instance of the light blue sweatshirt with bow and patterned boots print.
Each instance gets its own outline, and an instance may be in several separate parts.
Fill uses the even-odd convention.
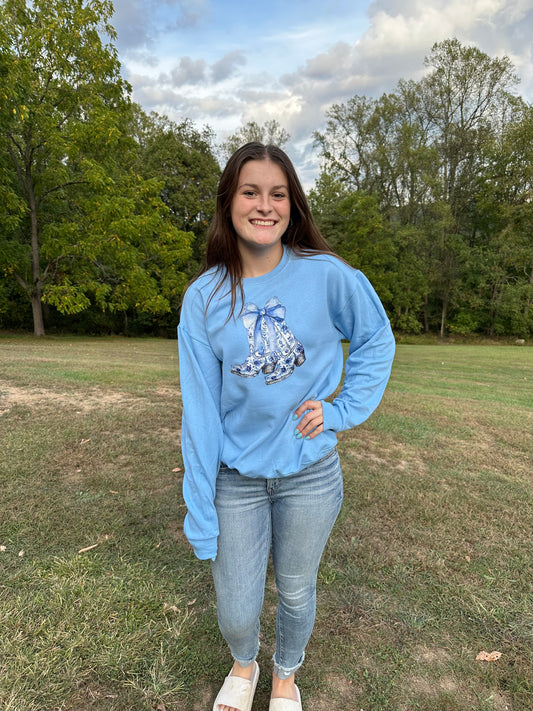
[[[226,284],[208,304],[217,270],[187,289],[178,326],[183,400],[185,534],[200,559],[215,558],[220,463],[248,477],[277,478],[318,461],[336,432],[361,424],[389,379],[394,336],[366,277],[330,255],[299,257],[243,279],[244,305],[228,321]],[[206,310],[207,307],[207,310]],[[342,340],[350,342],[343,373]],[[295,410],[322,400],[324,431],[296,439]]]

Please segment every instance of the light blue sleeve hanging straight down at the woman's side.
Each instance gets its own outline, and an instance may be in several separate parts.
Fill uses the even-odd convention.
[[[220,361],[209,344],[189,333],[189,321],[196,327],[194,311],[199,311],[199,323],[203,324],[201,309],[184,304],[178,327],[183,400],[181,446],[185,465],[183,497],[187,505],[184,530],[196,556],[206,560],[217,553],[218,520],[214,499],[222,451],[222,376]]]

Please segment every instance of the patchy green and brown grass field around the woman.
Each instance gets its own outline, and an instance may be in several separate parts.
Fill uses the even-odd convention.
[[[230,658],[179,424],[171,341],[0,338],[2,711],[211,709]],[[400,345],[339,451],[306,711],[531,711],[533,350]],[[274,610],[270,577],[254,711]]]

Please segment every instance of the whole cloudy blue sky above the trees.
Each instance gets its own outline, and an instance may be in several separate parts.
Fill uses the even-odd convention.
[[[506,55],[533,102],[533,0],[114,0],[132,98],[218,142],[275,119],[304,187],[320,170],[313,132],[332,104],[420,79],[435,42]]]

